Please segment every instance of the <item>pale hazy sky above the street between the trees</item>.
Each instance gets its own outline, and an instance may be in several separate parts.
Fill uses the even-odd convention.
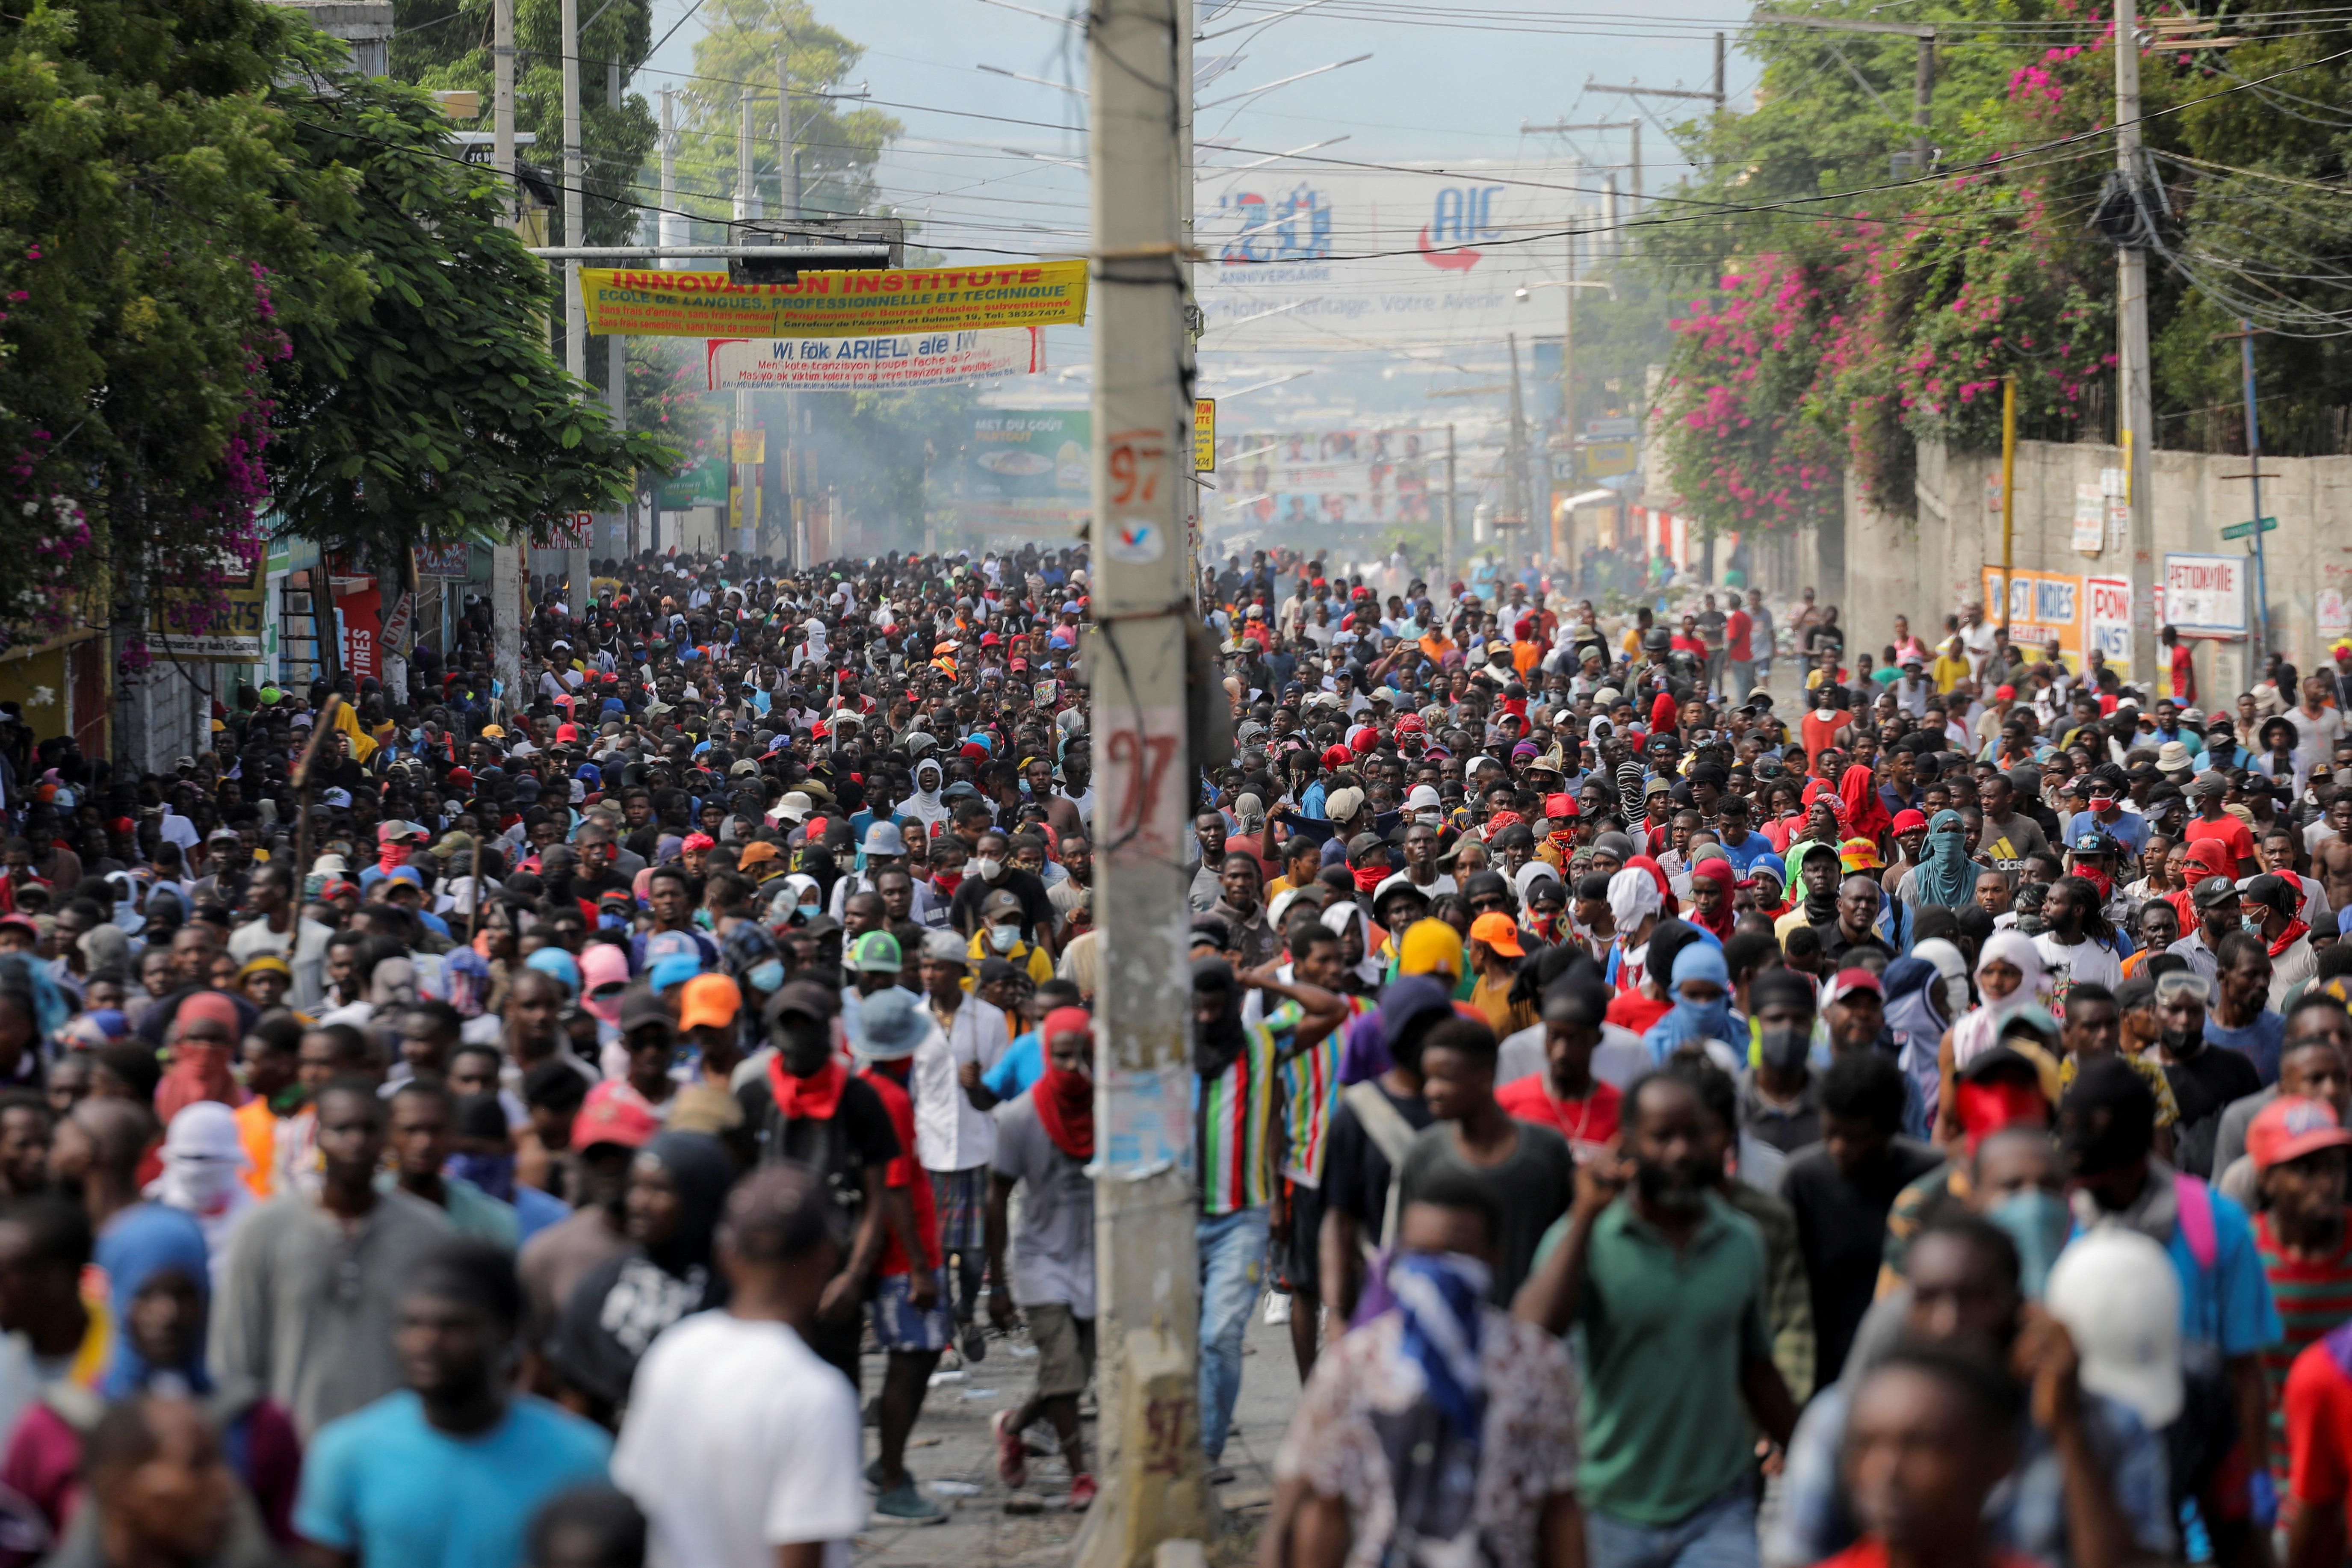
[[[957,247],[988,252],[1070,254],[1084,247],[1087,176],[1084,101],[1049,82],[1084,87],[1087,54],[1077,28],[1025,12],[1061,14],[1068,0],[814,0],[816,14],[866,47],[856,75],[877,108],[896,115],[901,139],[882,162],[882,190],[906,214],[922,219],[922,240],[950,256]],[[1717,28],[1733,35],[1729,54],[1731,106],[1748,103],[1757,68],[1736,49],[1745,5],[1731,0],[1651,0],[1642,9],[1571,12],[1559,0],[1324,0],[1315,9],[1265,26],[1296,0],[1197,0],[1195,45],[1204,68],[1197,87],[1202,167],[1232,167],[1268,153],[1289,153],[1331,139],[1312,158],[1362,162],[1501,160],[1557,162],[1583,158],[1592,167],[1625,160],[1625,132],[1573,139],[1522,134],[1522,122],[1590,122],[1646,113],[1642,127],[1644,183],[1665,188],[1679,172],[1668,127],[1703,103],[1630,99],[1588,92],[1588,80],[1651,87],[1710,87]],[[656,96],[684,85],[694,68],[701,21],[694,0],[654,0],[654,33],[680,16],[684,26],[637,73],[635,87]],[[1214,7],[1214,14],[1211,14]],[[1254,89],[1279,78],[1345,61],[1371,59],[1324,75]],[[1216,56],[1240,56],[1216,61]],[[1209,66],[1214,61],[1214,66]],[[983,71],[995,66],[1044,82]],[[1225,101],[1240,99],[1240,101]],[[1228,139],[1228,148],[1209,141]],[[971,252],[967,252],[971,254]],[[1538,296],[1559,301],[1557,294]],[[1529,317],[1552,320],[1550,310]],[[1087,393],[1084,329],[1051,329],[1056,367],[1047,378],[1023,378],[1028,402],[1082,402]],[[1501,346],[1475,348],[1463,362],[1501,364]],[[1376,393],[1369,381],[1381,362],[1362,355],[1218,357],[1204,353],[1209,393],[1235,393],[1268,376],[1305,369],[1296,383],[1256,393],[1235,416],[1305,416],[1319,400]],[[1390,369],[1390,378],[1418,374]],[[1428,386],[1409,381],[1406,386]],[[1404,393],[1404,388],[1395,388]],[[1409,393],[1416,402],[1421,393]],[[1277,409],[1282,414],[1277,414]]]

